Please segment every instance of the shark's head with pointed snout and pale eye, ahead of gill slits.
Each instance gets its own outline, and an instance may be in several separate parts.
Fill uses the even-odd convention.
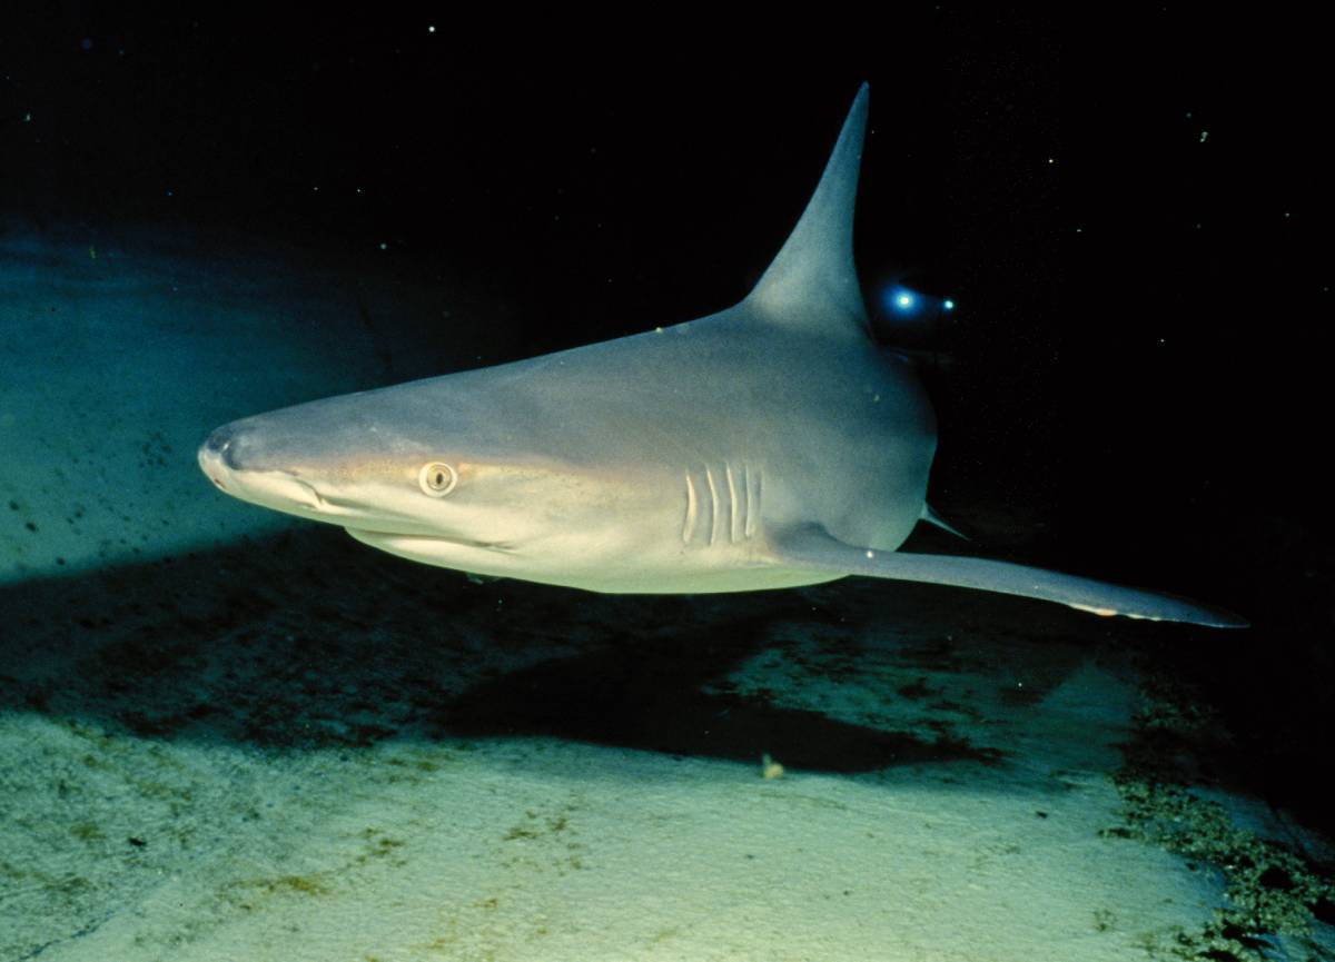
[[[497,436],[498,420],[470,416],[466,392],[446,380],[232,422],[200,446],[199,466],[234,498],[466,571],[522,575],[569,558],[571,536],[589,539],[586,551],[606,544],[605,512],[589,504],[618,495],[590,499],[605,484],[597,471]]]

